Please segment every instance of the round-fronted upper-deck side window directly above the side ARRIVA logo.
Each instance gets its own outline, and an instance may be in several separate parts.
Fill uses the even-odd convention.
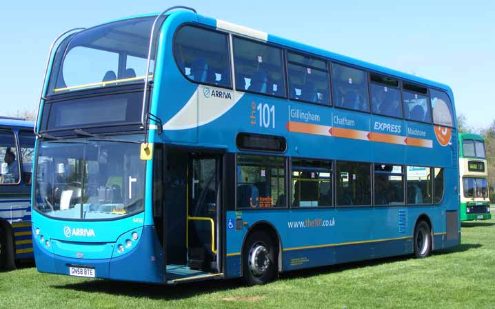
[[[174,57],[188,79],[232,87],[226,34],[184,26],[174,40]]]

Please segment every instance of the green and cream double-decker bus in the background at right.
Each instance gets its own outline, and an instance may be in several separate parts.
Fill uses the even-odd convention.
[[[461,221],[491,219],[485,141],[473,133],[461,133],[458,137]]]

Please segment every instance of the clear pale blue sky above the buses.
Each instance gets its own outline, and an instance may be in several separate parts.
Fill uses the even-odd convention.
[[[0,114],[36,110],[53,39],[176,5],[449,85],[457,114],[495,119],[495,1],[4,1]]]

